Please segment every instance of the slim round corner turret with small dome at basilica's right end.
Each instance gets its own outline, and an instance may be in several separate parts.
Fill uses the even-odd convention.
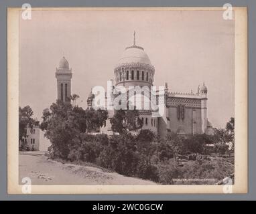
[[[200,90],[201,96],[201,118],[202,118],[202,133],[206,132],[207,128],[207,88],[203,84]]]

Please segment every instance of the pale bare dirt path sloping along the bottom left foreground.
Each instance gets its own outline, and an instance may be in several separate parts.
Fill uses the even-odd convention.
[[[23,177],[29,177],[32,185],[157,185],[96,167],[62,164],[49,160],[44,152],[19,153],[19,183]]]

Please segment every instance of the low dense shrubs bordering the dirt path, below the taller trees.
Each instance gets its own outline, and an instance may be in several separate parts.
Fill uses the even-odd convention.
[[[68,151],[66,159],[94,163],[121,175],[148,179],[164,185],[177,184],[175,179],[218,180],[232,174],[233,163],[198,158],[204,155],[196,153],[206,153],[205,144],[208,141],[205,139],[205,136],[184,138],[176,134],[160,139],[150,130],[141,130],[137,136],[126,133],[109,137],[106,134],[81,133],[65,147]],[[226,147],[221,145],[216,149],[222,152]],[[180,154],[186,156],[188,152],[194,154],[190,154],[189,161],[182,163],[181,167],[176,157]],[[62,158],[62,151],[54,144],[49,148],[49,155],[51,158]]]

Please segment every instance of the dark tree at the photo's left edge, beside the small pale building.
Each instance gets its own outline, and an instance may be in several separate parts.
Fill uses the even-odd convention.
[[[19,140],[27,137],[27,130],[26,128],[33,128],[34,126],[39,125],[39,121],[31,118],[34,112],[30,106],[25,106],[21,108],[19,106]]]

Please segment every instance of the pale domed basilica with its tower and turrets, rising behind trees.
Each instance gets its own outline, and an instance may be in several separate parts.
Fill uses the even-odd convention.
[[[131,86],[140,88],[147,86],[150,89],[153,86],[155,68],[143,47],[135,43],[135,37],[133,45],[126,47],[123,51],[113,72],[114,88],[124,86],[128,90]],[[56,68],[58,99],[69,100],[71,78],[72,70],[66,58],[63,57],[59,67]],[[142,129],[149,129],[160,136],[165,136],[168,132],[182,135],[214,134],[214,129],[207,119],[207,93],[208,90],[204,83],[198,86],[196,93],[171,92],[166,83],[164,96],[159,96],[156,92],[157,104],[163,104],[164,114],[155,116],[155,110],[151,108],[139,110],[139,118],[143,122]],[[92,108],[94,98],[95,95],[90,92],[87,98],[88,108]],[[108,111],[109,118],[99,132],[113,134],[110,118],[113,117],[115,110]]]

